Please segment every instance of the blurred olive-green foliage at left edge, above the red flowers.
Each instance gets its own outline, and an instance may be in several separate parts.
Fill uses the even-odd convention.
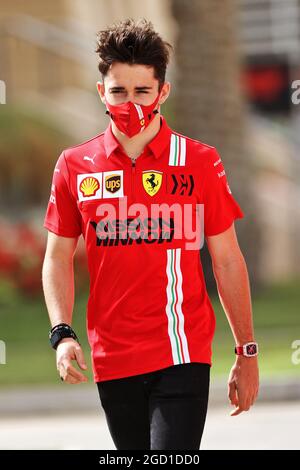
[[[26,107],[0,108],[0,204],[12,209],[44,204],[56,160],[71,137],[46,113]]]

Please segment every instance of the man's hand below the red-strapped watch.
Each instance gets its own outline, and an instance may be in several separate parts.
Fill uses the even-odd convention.
[[[259,388],[257,357],[237,356],[228,379],[228,398],[236,408],[230,413],[236,416],[248,411],[255,402]]]

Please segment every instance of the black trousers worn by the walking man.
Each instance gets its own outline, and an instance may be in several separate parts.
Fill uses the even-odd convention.
[[[118,450],[198,450],[206,420],[210,365],[190,362],[97,382]]]

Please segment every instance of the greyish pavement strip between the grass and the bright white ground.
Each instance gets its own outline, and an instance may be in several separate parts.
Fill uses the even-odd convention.
[[[51,413],[94,413],[99,408],[95,384],[58,384],[0,388],[0,416],[49,415]],[[260,383],[257,403],[300,401],[299,378],[282,377]],[[227,377],[214,379],[210,386],[211,407],[227,405]]]

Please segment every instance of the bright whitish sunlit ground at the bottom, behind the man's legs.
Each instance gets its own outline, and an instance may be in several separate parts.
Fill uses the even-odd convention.
[[[231,407],[210,406],[202,449],[300,449],[300,402],[257,403],[230,417]],[[115,449],[101,409],[94,413],[5,417],[0,449]]]

